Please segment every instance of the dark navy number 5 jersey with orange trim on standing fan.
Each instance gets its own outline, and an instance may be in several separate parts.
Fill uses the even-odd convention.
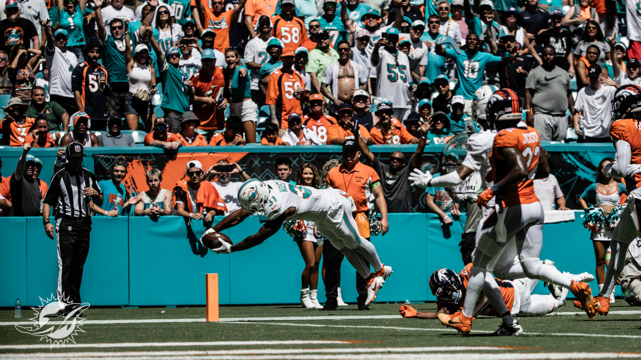
[[[110,83],[107,69],[98,65],[92,69],[87,61],[79,64],[71,73],[71,91],[80,92],[80,99],[92,119],[107,118],[107,100],[100,88],[98,79],[105,77]]]

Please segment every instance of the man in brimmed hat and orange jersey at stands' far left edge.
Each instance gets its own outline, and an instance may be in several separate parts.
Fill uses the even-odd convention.
[[[24,136],[29,133],[35,122],[33,117],[25,117],[29,104],[24,104],[21,99],[12,97],[3,110],[6,117],[0,120],[0,133],[3,145],[19,147],[24,143]]]

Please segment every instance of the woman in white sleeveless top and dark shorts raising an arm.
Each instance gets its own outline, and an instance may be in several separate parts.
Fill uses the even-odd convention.
[[[125,20],[128,29],[129,21]],[[129,78],[129,92],[124,99],[125,119],[129,129],[138,129],[138,119],[142,119],[147,129],[151,129],[154,112],[149,106],[151,97],[156,92],[156,74],[149,57],[149,47],[145,44],[136,45],[135,54],[131,55],[129,31],[124,34],[124,59]]]

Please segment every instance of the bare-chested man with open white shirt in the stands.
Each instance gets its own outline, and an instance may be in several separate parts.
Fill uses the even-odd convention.
[[[335,105],[329,108],[330,111],[338,108],[343,102],[351,103],[354,90],[367,88],[367,69],[349,60],[351,56],[349,42],[345,40],[339,42],[337,51],[338,61],[327,67],[320,86],[320,92]],[[329,85],[331,85],[331,92],[328,89]]]

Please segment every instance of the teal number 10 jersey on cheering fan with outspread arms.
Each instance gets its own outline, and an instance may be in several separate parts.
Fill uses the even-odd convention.
[[[456,95],[462,95],[464,99],[474,98],[474,92],[483,86],[483,73],[488,64],[497,64],[501,56],[477,51],[472,58],[467,51],[457,54],[454,49],[447,48],[445,53],[456,61],[456,74],[458,74],[458,89]],[[428,60],[429,61],[429,60]]]

